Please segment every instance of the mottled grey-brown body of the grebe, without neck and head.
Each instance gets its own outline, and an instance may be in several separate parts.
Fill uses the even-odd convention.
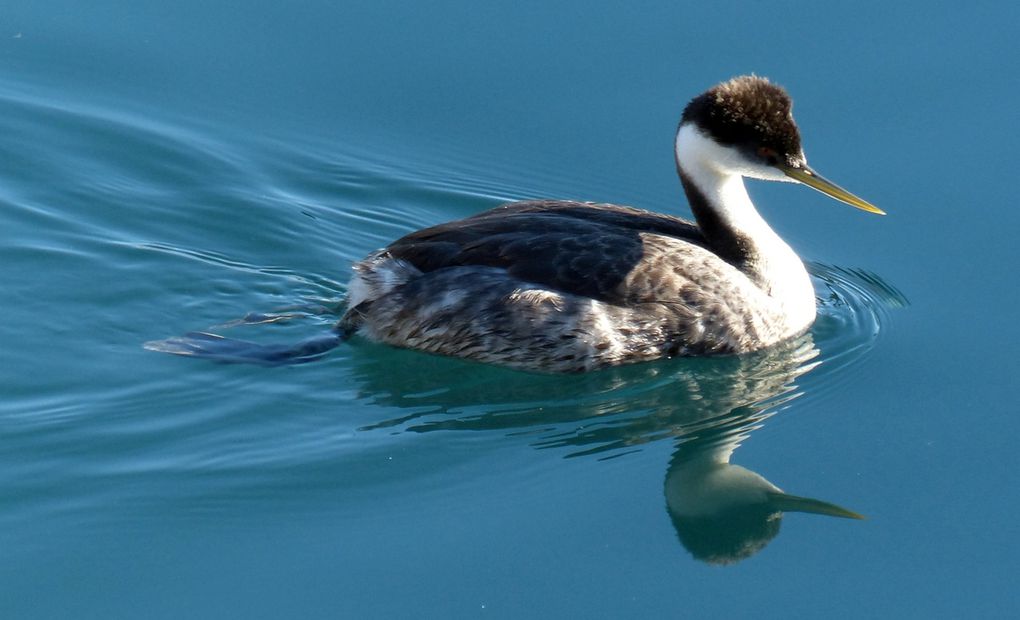
[[[787,335],[778,309],[761,312],[767,296],[701,243],[690,222],[639,209],[511,203],[358,263],[342,325],[547,372],[745,353]]]

